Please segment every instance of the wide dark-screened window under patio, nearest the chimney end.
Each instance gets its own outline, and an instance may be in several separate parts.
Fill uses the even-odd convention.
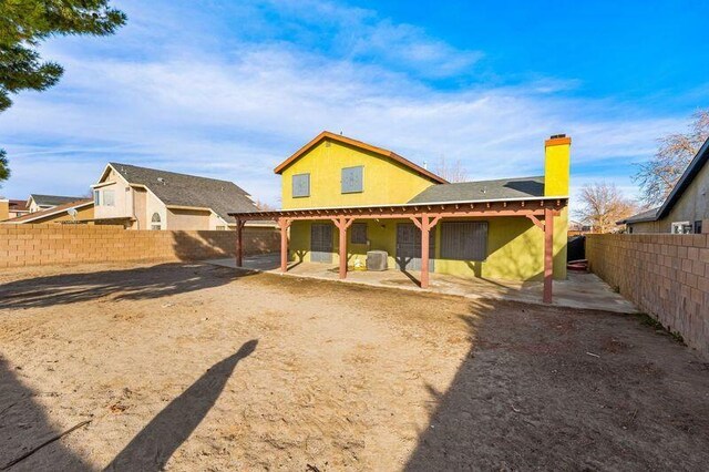
[[[487,222],[445,222],[441,224],[441,258],[485,260]]]

